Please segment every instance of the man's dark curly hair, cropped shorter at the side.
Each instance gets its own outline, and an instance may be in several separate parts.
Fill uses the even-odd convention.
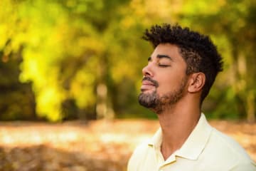
[[[142,38],[151,42],[154,48],[160,43],[171,43],[178,46],[179,52],[187,64],[186,75],[196,72],[206,75],[206,83],[201,94],[201,103],[203,103],[217,74],[223,71],[222,57],[210,38],[191,31],[187,27],[181,28],[178,24],[151,26],[150,30],[146,29]]]

